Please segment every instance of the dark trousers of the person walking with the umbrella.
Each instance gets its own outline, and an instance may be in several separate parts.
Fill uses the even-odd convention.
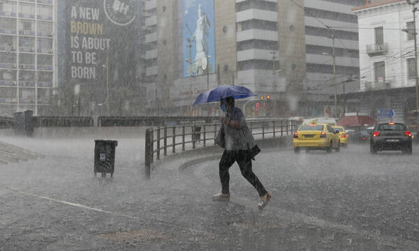
[[[253,187],[258,190],[258,194],[260,197],[266,194],[265,188],[263,188],[262,183],[260,183],[258,177],[253,174],[251,170],[251,158],[249,153],[246,150],[237,150],[237,151],[224,151],[223,156],[220,160],[220,180],[221,180],[221,192],[223,194],[230,193],[230,174],[228,173],[228,169],[237,161],[237,164],[240,167],[240,171],[244,178],[253,185]]]

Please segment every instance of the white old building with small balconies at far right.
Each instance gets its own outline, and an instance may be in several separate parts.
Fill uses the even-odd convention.
[[[373,1],[353,9],[360,36],[361,112],[377,119],[393,109],[392,121],[406,122],[416,109],[412,6],[406,1]],[[416,26],[418,26],[418,22]]]

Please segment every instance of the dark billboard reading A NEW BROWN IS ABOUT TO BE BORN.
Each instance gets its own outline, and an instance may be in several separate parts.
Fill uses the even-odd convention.
[[[66,0],[66,84],[103,94],[135,79],[135,1]],[[84,87],[86,89],[86,87]],[[96,98],[101,101],[102,98]]]

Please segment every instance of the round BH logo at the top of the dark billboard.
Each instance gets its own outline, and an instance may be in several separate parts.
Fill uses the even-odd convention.
[[[109,20],[118,25],[128,25],[135,19],[134,0],[104,0],[103,7]]]

